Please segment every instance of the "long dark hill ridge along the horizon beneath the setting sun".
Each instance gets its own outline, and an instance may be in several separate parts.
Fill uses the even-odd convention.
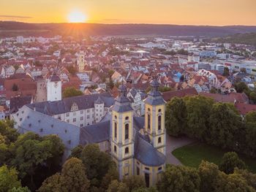
[[[20,23],[0,21],[0,37],[61,35],[159,35],[225,37],[256,32],[256,26],[178,26],[154,24]]]

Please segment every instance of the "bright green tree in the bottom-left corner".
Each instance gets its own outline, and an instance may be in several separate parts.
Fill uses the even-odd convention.
[[[6,165],[0,167],[0,192],[11,191],[20,187],[18,172],[14,168],[8,169]]]

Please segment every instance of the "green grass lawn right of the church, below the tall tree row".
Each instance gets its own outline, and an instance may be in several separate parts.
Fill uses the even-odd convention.
[[[186,166],[198,167],[202,160],[219,165],[222,156],[226,152],[218,147],[194,143],[174,150],[173,155]],[[250,172],[256,173],[256,159],[247,158],[243,155],[239,155],[239,157],[245,162]]]

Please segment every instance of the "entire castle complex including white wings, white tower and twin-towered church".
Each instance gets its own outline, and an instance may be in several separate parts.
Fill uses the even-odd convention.
[[[65,145],[65,158],[78,145],[96,143],[100,150],[110,153],[120,179],[140,175],[147,186],[155,185],[165,170],[166,137],[165,101],[157,80],[151,81],[151,91],[144,100],[145,116],[139,117],[125,85],[119,86],[115,100],[108,93],[59,100],[59,93],[55,93],[59,79],[55,75],[49,82],[53,84],[53,101],[21,107],[11,115],[15,128],[21,134],[57,134]],[[86,122],[82,117],[88,117]],[[77,124],[78,119],[81,121]]]

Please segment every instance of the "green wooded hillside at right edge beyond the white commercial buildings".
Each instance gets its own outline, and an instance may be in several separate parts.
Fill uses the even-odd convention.
[[[215,38],[213,39],[213,41],[246,44],[246,45],[253,45],[256,47],[256,33],[234,34],[227,37]]]

